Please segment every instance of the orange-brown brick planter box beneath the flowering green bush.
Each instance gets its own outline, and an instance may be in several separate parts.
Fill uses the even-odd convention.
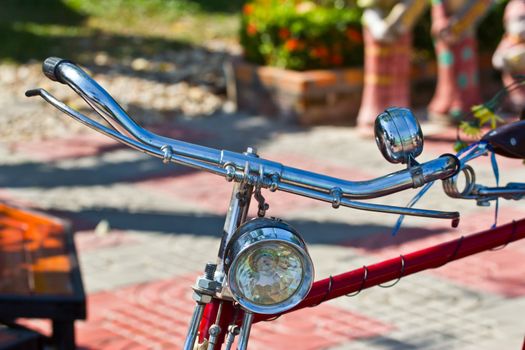
[[[298,72],[240,59],[226,66],[228,96],[240,110],[312,124],[355,124],[363,70]]]

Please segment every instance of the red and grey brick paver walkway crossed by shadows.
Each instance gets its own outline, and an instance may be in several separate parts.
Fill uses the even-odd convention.
[[[230,115],[158,129],[217,148],[242,151],[254,145],[262,157],[351,180],[401,168],[384,161],[372,139],[346,127],[302,129]],[[421,160],[451,152],[451,135],[453,130],[434,131]],[[0,157],[1,198],[52,212],[76,227],[89,293],[89,319],[77,323],[80,347],[180,348],[192,312],[190,285],[216,255],[230,185],[210,174],[165,166],[94,133],[2,145]],[[487,159],[475,167],[481,181],[494,183]],[[525,178],[520,161],[500,160],[500,167],[501,183]],[[317,277],[324,278],[492,225],[493,207],[441,192],[434,186],[418,206],[459,210],[458,229],[442,220],[407,218],[395,237],[393,215],[265,195],[269,215],[304,234]],[[414,193],[380,202],[404,205]],[[525,213],[525,203],[500,204],[501,223]],[[101,221],[111,229],[103,230]],[[372,288],[257,324],[250,344],[253,349],[519,349],[523,314],[525,242],[518,242],[407,277],[394,288]]]

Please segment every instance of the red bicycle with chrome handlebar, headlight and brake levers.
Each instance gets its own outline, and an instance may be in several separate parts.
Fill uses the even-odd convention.
[[[208,171],[233,183],[217,263],[207,264],[204,275],[193,286],[196,305],[185,350],[219,349],[223,343],[226,349],[231,349],[237,336],[237,348],[246,349],[254,322],[272,320],[283,313],[317,306],[387,281],[399,281],[427,268],[440,267],[525,237],[525,219],[522,219],[314,282],[314,267],[300,233],[279,219],[265,217],[268,205],[262,195],[263,189],[309,197],[327,202],[333,208],[343,206],[448,219],[457,226],[458,212],[388,206],[362,200],[427,186],[437,180],[443,181],[444,191],[449,196],[477,200],[480,204],[499,198],[522,199],[525,184],[511,183],[502,187],[476,184],[474,170],[467,162],[490,152],[524,158],[525,122],[496,129],[461,156],[444,154],[420,164],[416,158],[423,150],[423,134],[417,120],[408,109],[387,109],[376,120],[377,144],[388,161],[405,164],[407,168],[376,179],[352,182],[260,158],[253,148],[241,154],[153,134],[136,124],[74,63],[48,58],[43,70],[50,79],[69,85],[110,127],[72,109],[43,89],[29,90],[27,96],[40,96],[86,126],[161,158],[164,163]],[[460,174],[466,179],[463,189],[458,188]],[[257,203],[258,217],[248,220],[252,197]]]

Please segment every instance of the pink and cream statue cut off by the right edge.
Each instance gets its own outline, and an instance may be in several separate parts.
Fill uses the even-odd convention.
[[[525,76],[525,0],[511,0],[503,18],[505,36],[492,56],[492,64],[503,71],[503,84],[515,82],[516,75]],[[512,107],[525,117],[525,86],[509,93]]]

